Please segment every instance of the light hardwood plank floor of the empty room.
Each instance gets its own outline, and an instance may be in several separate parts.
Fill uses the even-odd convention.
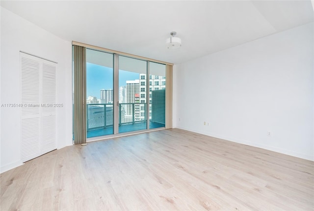
[[[49,152],[0,175],[0,210],[314,210],[314,162],[180,129]]]

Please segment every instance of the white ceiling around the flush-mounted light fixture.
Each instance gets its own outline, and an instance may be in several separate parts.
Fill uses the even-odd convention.
[[[311,0],[1,0],[62,39],[182,63],[314,21]],[[176,31],[182,47],[168,50]]]

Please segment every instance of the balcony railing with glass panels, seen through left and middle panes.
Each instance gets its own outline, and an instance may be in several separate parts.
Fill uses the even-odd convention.
[[[87,104],[87,131],[113,126],[113,104]],[[119,125],[146,121],[146,103],[120,103]]]

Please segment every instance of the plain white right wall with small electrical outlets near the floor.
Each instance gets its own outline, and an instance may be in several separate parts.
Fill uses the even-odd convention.
[[[175,65],[174,127],[314,160],[313,39],[311,23]]]

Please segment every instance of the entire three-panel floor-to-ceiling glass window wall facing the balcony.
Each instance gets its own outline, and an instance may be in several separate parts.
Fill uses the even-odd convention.
[[[167,65],[85,48],[86,138],[165,128]]]

